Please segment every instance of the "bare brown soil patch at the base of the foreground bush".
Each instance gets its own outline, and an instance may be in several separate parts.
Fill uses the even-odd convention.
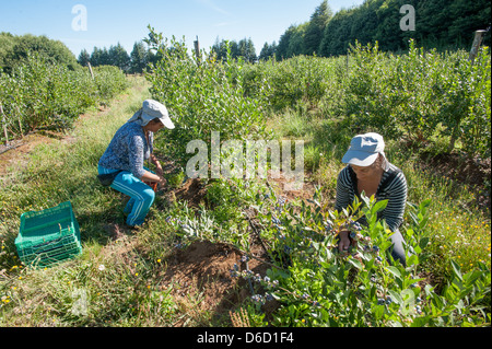
[[[258,258],[267,258],[259,246],[254,247],[251,254]],[[246,269],[246,264],[241,261],[243,255],[227,244],[195,242],[171,255],[162,277],[162,286],[173,286],[176,302],[198,301],[191,310],[197,314],[189,314],[190,316],[198,317],[198,314],[209,312],[212,319],[229,321],[229,312],[253,295],[246,281],[231,274],[234,265],[241,270]],[[265,277],[269,265],[251,258],[247,267],[255,275]],[[186,326],[186,318],[175,326]]]

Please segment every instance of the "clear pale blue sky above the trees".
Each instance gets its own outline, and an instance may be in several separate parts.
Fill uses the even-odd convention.
[[[291,24],[307,22],[323,0],[1,0],[0,32],[46,35],[61,40],[75,56],[94,46],[109,48],[120,43],[131,53],[147,37],[150,24],[164,36],[185,36],[192,47],[198,36],[209,50],[215,39],[251,38],[259,55],[267,42],[279,42]],[[363,0],[329,0],[333,13],[360,5]],[[86,31],[72,22],[86,9]],[[77,21],[75,21],[77,22]],[[81,22],[77,22],[81,23]]]

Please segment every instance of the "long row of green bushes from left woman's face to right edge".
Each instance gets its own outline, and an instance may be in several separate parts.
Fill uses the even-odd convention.
[[[488,47],[471,61],[465,50],[425,51],[413,40],[406,55],[382,53],[377,43],[356,43],[348,56],[250,65],[233,60],[230,48],[223,61],[213,53],[199,61],[185,43],[169,43],[153,32],[151,37],[159,38],[153,44],[163,59],[148,79],[154,98],[164,101],[183,126],[169,136],[181,155],[187,142],[207,141],[211,131],[261,137],[268,113],[301,108],[387,139],[447,142],[443,151],[490,156]]]

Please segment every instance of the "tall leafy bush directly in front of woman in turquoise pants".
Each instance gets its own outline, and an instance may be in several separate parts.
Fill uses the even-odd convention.
[[[147,74],[151,93],[166,105],[176,125],[156,144],[180,166],[186,165],[187,143],[202,140],[210,144],[213,131],[221,132],[221,139],[237,140],[266,135],[263,100],[260,95],[245,96],[242,59],[234,61],[230,50],[225,61],[218,61],[213,55],[190,57],[184,40],[173,37],[169,42],[152,28],[150,38],[149,44],[162,56]]]

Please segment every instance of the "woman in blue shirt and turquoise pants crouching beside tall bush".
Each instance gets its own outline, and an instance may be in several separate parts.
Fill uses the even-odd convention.
[[[147,100],[132,118],[115,133],[98,162],[99,179],[105,186],[130,197],[124,212],[127,224],[142,225],[154,202],[154,190],[143,182],[165,184],[163,170],[153,154],[154,133],[166,127],[174,129],[166,107]],[[143,166],[150,160],[156,173]]]

